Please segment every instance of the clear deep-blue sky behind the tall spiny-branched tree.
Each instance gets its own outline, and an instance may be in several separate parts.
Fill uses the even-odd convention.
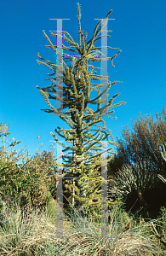
[[[113,61],[115,67],[108,61],[108,75],[111,81],[121,80],[123,84],[112,86],[109,99],[119,91],[120,96],[113,103],[127,104],[114,108],[117,119],[104,120],[117,141],[123,127],[127,125],[131,129],[132,119],[140,112],[150,111],[155,117],[156,111],[160,113],[165,106],[166,2],[83,0],[79,3],[81,25],[88,32],[88,40],[98,22],[94,19],[106,18],[108,11],[113,9],[109,18],[115,20],[108,21],[108,29],[112,30],[108,45],[119,47],[122,52]],[[54,51],[45,47],[48,42],[43,36],[45,30],[55,44],[49,30],[56,30],[56,20],[49,18],[70,19],[63,21],[63,30],[78,43],[77,1],[8,0],[0,3],[0,121],[9,124],[9,139],[14,137],[21,141],[15,148],[26,146],[31,156],[37,151],[37,136],[43,143],[43,152],[53,144],[54,137],[50,131],[54,132],[57,126],[68,128],[59,117],[49,116],[40,110],[48,106],[36,88],[36,85],[50,85],[45,80],[49,69],[37,64],[37,52],[44,59],[56,61]],[[112,53],[108,51],[108,55],[112,56]]]

